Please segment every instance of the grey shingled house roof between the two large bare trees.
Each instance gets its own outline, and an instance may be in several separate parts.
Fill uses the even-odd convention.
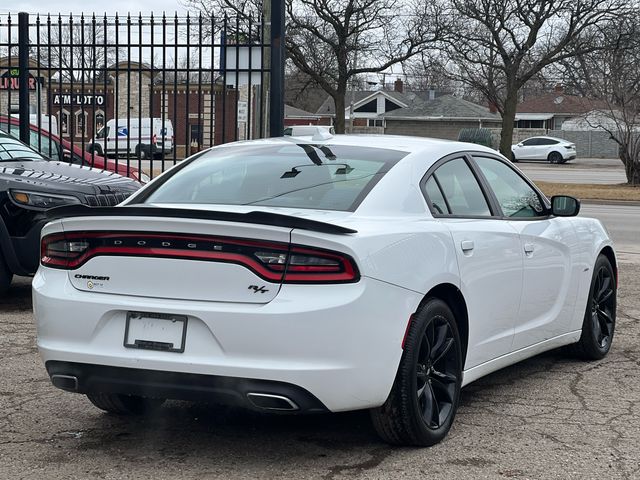
[[[415,97],[406,108],[399,108],[384,114],[389,119],[423,119],[436,120],[439,118],[473,118],[482,120],[495,120],[499,122],[501,117],[491,112],[487,107],[454,97],[443,95],[433,100],[424,100]]]

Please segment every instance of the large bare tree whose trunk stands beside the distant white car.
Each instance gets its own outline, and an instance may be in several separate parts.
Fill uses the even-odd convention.
[[[450,71],[502,115],[500,152],[511,155],[518,92],[544,68],[598,49],[598,28],[625,9],[623,0],[452,0],[456,37]]]

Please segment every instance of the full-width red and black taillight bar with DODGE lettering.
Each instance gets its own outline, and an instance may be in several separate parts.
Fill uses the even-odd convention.
[[[360,274],[343,253],[230,237],[91,232],[43,237],[42,265],[73,270],[97,256],[177,258],[242,265],[270,282],[349,283]]]

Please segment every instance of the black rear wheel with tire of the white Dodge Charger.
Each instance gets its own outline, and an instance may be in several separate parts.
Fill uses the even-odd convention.
[[[456,319],[445,302],[430,298],[411,319],[389,397],[371,410],[376,432],[394,445],[440,442],[453,423],[461,385]]]

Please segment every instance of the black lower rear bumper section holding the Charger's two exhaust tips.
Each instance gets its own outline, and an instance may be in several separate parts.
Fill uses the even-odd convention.
[[[291,413],[327,411],[322,402],[303,388],[283,382],[57,361],[48,361],[46,368],[55,386],[76,393],[215,400],[254,410]]]

